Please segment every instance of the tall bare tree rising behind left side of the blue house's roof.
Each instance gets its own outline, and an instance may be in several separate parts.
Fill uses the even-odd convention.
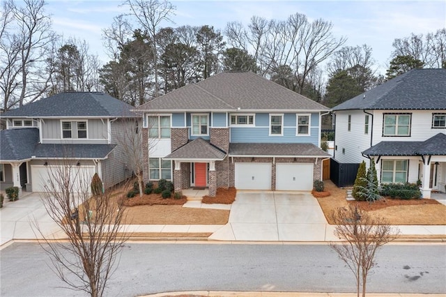
[[[130,15],[135,17],[145,33],[151,38],[153,67],[155,68],[155,98],[160,95],[158,82],[158,52],[157,31],[161,22],[173,22],[170,16],[174,14],[175,6],[167,0],[124,0],[123,5],[130,8]]]

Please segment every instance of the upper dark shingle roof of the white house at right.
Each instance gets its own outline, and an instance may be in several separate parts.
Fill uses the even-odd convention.
[[[446,109],[446,69],[410,70],[333,107],[348,109]]]

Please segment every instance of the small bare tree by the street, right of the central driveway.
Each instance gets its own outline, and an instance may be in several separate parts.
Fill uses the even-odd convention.
[[[336,224],[334,235],[342,241],[330,243],[330,247],[355,275],[357,296],[362,291],[362,297],[365,297],[367,275],[376,265],[376,251],[392,241],[399,234],[399,229],[392,228],[384,218],[372,217],[353,204],[349,204],[348,208],[337,208],[330,216]]]

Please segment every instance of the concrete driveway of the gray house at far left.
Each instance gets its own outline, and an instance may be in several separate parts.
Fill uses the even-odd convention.
[[[0,210],[0,245],[12,239],[42,238],[33,222],[38,222],[45,237],[59,238],[62,235],[61,229],[49,218],[38,193],[24,192],[20,199],[14,202],[8,201],[5,196],[3,208]]]

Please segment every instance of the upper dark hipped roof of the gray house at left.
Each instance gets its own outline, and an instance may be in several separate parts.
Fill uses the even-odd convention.
[[[13,117],[53,117],[53,116],[134,116],[131,105],[99,92],[59,93],[17,109],[4,112],[2,118]]]

